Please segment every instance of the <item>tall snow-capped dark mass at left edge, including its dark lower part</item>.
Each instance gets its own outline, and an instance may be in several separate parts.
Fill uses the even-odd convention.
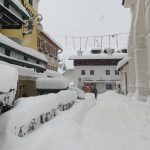
[[[0,64],[0,114],[14,105],[18,72],[15,68]]]

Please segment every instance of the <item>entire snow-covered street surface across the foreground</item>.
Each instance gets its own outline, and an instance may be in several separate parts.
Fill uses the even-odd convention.
[[[2,150],[149,150],[149,108],[113,91],[88,94],[25,137],[1,136]]]

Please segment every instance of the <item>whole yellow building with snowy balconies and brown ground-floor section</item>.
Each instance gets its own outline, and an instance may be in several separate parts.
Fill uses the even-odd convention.
[[[0,0],[0,63],[19,71],[17,98],[36,95],[34,74],[47,67],[47,58],[37,51],[38,2]]]

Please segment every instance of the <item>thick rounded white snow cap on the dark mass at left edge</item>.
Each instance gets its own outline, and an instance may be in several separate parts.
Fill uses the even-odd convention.
[[[0,64],[0,92],[17,88],[18,72],[15,68]]]

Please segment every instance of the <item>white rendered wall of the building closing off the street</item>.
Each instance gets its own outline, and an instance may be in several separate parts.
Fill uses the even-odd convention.
[[[85,75],[81,75],[81,70],[85,70]],[[94,75],[90,75],[90,70],[94,70]],[[110,70],[110,75],[106,75],[106,70]],[[106,91],[106,84],[112,84],[115,89],[115,82],[121,79],[120,75],[115,75],[116,66],[75,66],[74,67],[74,82],[79,86],[79,78],[81,78],[81,85],[88,83],[95,83],[98,93]],[[99,80],[99,81],[96,81]]]

